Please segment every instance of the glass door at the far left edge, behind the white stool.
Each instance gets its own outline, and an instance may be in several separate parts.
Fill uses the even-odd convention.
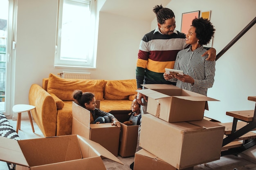
[[[0,112],[10,115],[11,55],[15,44],[13,15],[15,0],[0,0]],[[15,17],[16,18],[16,17]]]

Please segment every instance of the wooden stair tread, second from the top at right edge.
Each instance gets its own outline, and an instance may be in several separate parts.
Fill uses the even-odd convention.
[[[254,110],[229,111],[226,115],[248,122],[253,120]]]

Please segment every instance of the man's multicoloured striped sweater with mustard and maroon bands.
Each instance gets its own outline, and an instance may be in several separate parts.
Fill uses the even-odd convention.
[[[141,84],[172,84],[164,79],[164,68],[173,68],[177,53],[184,49],[185,34],[174,30],[171,35],[155,29],[144,35],[139,46],[136,79]]]

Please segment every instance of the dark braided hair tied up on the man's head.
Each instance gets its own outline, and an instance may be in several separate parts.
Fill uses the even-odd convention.
[[[153,12],[157,16],[157,22],[159,24],[164,24],[165,20],[175,18],[175,15],[171,9],[168,8],[163,8],[162,4],[161,5],[156,5],[153,8]]]

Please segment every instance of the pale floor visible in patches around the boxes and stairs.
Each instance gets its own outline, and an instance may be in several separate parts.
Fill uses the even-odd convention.
[[[9,119],[9,121],[13,128],[16,129],[17,121],[13,121],[11,119]],[[32,132],[29,120],[22,120],[21,130],[18,131],[20,139],[34,139],[44,137],[35,122],[34,129],[35,133]],[[123,158],[118,156],[117,158],[120,159],[120,161],[122,161],[124,165],[121,165],[109,159],[103,159],[107,170],[130,170],[130,164],[134,161],[134,157]],[[234,168],[236,168],[237,170],[256,170],[256,163],[252,163],[241,157],[228,155],[220,157],[220,160],[217,161],[194,166],[194,170],[234,170]],[[9,170],[9,168],[7,167],[7,163],[0,161],[0,170]]]

